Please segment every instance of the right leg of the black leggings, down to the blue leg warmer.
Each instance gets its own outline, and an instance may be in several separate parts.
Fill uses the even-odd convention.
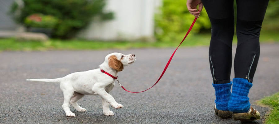
[[[237,0],[235,78],[253,82],[259,60],[259,35],[268,0]]]

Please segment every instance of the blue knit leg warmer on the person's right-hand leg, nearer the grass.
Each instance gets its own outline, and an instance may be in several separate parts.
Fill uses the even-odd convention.
[[[248,93],[252,83],[243,78],[233,78],[232,96],[228,102],[228,110],[234,113],[246,113],[250,109]]]

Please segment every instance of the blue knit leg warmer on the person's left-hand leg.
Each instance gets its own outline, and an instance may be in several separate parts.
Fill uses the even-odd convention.
[[[231,96],[232,82],[225,84],[212,84],[215,89],[215,104],[218,110],[228,111],[228,101]]]

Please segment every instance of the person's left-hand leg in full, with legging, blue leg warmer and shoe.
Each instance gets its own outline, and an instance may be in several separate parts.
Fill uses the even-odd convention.
[[[209,62],[216,96],[215,113],[220,118],[232,118],[227,105],[232,85],[230,74],[234,34],[233,0],[203,0],[202,2],[211,22]]]

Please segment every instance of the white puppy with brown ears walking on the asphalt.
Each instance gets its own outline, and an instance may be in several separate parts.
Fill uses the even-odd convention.
[[[121,53],[111,53],[105,57],[99,69],[88,70],[84,72],[71,73],[63,78],[55,79],[27,79],[27,81],[38,82],[60,82],[60,89],[63,91],[64,103],[62,108],[69,117],[75,117],[70,111],[72,105],[78,112],[86,112],[85,108],[80,107],[77,101],[84,95],[98,94],[102,98],[103,113],[106,116],[113,116],[113,112],[109,110],[109,104],[113,108],[123,108],[122,104],[118,104],[113,96],[108,94],[114,86],[114,80],[105,72],[117,77],[117,73],[123,70],[123,67],[135,62],[135,55],[123,55]]]

